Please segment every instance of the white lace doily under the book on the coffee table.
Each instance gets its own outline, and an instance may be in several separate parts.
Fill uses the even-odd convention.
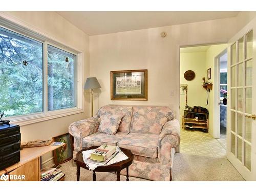
[[[90,157],[91,153],[94,151],[94,150],[87,150],[87,151],[83,151],[82,152],[82,158],[83,158],[83,162],[86,163],[86,166],[89,168],[89,170],[94,170],[95,168],[97,168],[98,166],[107,166],[107,165],[111,165],[111,164],[114,164],[114,163],[117,163],[117,162],[120,162],[120,161],[123,161],[123,160],[126,160],[128,159],[128,157],[120,150],[119,147],[116,147],[116,150],[119,151],[119,153],[113,157],[113,159],[111,159],[108,163],[106,163],[105,165],[97,165],[97,164],[94,164],[94,163],[88,163],[88,162],[85,162],[84,160],[86,160],[88,157]]]

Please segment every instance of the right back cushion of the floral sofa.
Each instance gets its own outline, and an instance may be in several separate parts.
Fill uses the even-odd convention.
[[[160,134],[163,125],[173,119],[167,106],[134,106],[130,132]]]

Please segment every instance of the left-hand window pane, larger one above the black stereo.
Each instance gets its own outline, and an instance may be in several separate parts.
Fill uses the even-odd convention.
[[[43,111],[42,63],[41,42],[0,27],[0,111],[6,116]]]

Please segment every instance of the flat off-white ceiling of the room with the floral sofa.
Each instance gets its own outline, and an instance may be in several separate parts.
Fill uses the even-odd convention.
[[[235,17],[238,11],[59,11],[62,17],[88,35]]]

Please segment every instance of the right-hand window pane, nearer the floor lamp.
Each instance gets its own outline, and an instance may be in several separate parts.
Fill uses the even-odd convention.
[[[76,55],[48,45],[48,111],[76,106],[75,66]]]

